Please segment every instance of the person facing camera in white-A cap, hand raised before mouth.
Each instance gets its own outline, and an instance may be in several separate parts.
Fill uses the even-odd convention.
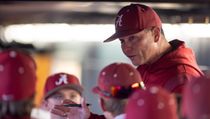
[[[53,119],[104,119],[90,113],[82,93],[76,76],[56,73],[47,78],[42,108],[50,111]]]

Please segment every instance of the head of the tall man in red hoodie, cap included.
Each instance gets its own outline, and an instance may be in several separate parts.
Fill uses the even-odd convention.
[[[160,49],[167,44],[162,34],[161,20],[151,7],[131,4],[118,12],[115,33],[104,42],[119,39],[123,53],[132,64],[139,66],[160,57]],[[164,45],[160,45],[162,43]]]

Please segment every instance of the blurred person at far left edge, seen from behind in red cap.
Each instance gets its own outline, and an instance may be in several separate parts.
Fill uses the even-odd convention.
[[[32,57],[18,50],[0,51],[1,119],[30,119],[36,79]]]

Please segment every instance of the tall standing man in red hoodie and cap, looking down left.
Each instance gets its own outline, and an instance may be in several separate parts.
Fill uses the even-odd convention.
[[[123,7],[115,20],[115,33],[104,42],[119,39],[123,53],[138,66],[147,86],[158,85],[181,93],[192,77],[201,77],[193,51],[180,40],[168,42],[156,12],[142,4]]]

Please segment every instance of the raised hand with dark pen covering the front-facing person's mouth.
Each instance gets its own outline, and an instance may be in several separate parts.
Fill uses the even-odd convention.
[[[75,104],[70,100],[64,100],[62,105],[55,105],[51,110],[53,118],[59,119],[88,119],[90,110],[84,99],[81,100],[82,107],[66,107],[65,104]]]

